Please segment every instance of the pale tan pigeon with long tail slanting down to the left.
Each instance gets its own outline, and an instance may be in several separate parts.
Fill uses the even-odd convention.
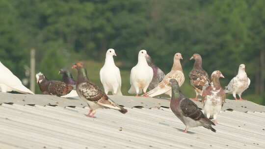
[[[165,78],[156,88],[146,93],[146,97],[154,97],[163,93],[171,97],[171,86],[168,84],[171,78],[177,79],[180,86],[184,83],[185,76],[183,74],[180,59],[183,59],[181,53],[176,53],[174,55],[174,63],[171,71],[165,76]]]

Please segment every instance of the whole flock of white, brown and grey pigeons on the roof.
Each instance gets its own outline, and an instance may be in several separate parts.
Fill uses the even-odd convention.
[[[77,79],[67,69],[60,69],[58,75],[62,75],[62,81],[50,80],[43,73],[36,74],[37,83],[43,94],[55,95],[58,97],[75,97],[85,101],[90,108],[88,117],[93,118],[98,108],[108,108],[117,110],[125,114],[127,109],[111,100],[107,94],[122,96],[121,75],[119,68],[115,65],[113,56],[117,56],[114,49],[106,51],[105,64],[100,70],[100,80],[104,91],[93,84],[87,75],[86,68],[82,62],[77,62],[72,66],[78,72]],[[188,99],[181,92],[180,87],[185,81],[185,75],[181,65],[182,54],[176,53],[173,57],[173,66],[171,71],[165,75],[157,67],[146,50],[140,50],[138,53],[138,62],[132,68],[130,75],[131,88],[129,94],[143,97],[155,97],[161,94],[167,94],[171,97],[170,108],[172,112],[185,124],[185,131],[190,127],[203,126],[216,132],[212,125],[217,123],[217,115],[220,113],[225,103],[226,94],[233,94],[236,100],[241,98],[250,85],[250,79],[245,72],[245,65],[241,64],[236,75],[229,84],[223,89],[219,78],[224,75],[218,70],[214,71],[209,79],[208,73],[202,68],[202,57],[194,53],[191,59],[194,59],[194,65],[189,72],[189,81],[193,87],[196,97]],[[34,94],[27,89],[20,79],[15,76],[8,68],[0,62],[0,92],[16,91],[24,94]],[[148,92],[147,92],[148,90]],[[237,99],[237,95],[239,99]],[[199,100],[198,97],[202,99]],[[198,100],[204,106],[204,113],[192,101]],[[90,116],[91,115],[91,116]]]

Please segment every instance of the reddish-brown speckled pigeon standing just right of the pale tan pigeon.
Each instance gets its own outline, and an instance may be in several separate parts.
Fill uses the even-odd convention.
[[[202,68],[201,55],[195,53],[189,60],[191,59],[195,59],[195,62],[188,76],[190,84],[196,92],[196,98],[193,100],[198,100],[198,96],[202,96],[202,91],[210,85],[210,80],[207,72]]]

